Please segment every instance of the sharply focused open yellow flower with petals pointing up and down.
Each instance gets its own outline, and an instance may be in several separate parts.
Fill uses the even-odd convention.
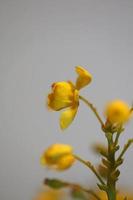
[[[78,78],[74,85],[71,81],[52,84],[48,95],[48,107],[54,111],[66,109],[60,116],[61,129],[67,128],[75,118],[79,106],[79,90],[91,82],[92,76],[81,66],[76,67]]]

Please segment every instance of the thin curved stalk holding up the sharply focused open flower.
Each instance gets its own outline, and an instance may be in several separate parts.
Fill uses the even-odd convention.
[[[98,121],[100,122],[101,126],[104,127],[104,123],[103,123],[101,117],[99,116],[99,114],[98,114],[96,108],[93,106],[93,104],[90,103],[87,99],[85,99],[85,98],[82,97],[82,96],[79,96],[79,98],[80,98],[84,103],[86,103],[86,104],[89,106],[89,108],[93,111],[93,113],[94,113],[95,116],[97,117],[97,119],[98,119]]]

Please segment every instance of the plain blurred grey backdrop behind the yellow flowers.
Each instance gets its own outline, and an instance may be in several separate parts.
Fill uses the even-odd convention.
[[[39,164],[52,143],[73,145],[97,164],[91,145],[104,141],[98,121],[81,103],[62,133],[59,113],[45,99],[55,81],[76,79],[82,65],[93,82],[81,93],[103,115],[107,101],[133,101],[132,0],[0,0],[0,199],[29,200],[44,177],[91,185],[96,179],[77,163],[57,173]],[[133,121],[121,145],[133,135]],[[133,188],[133,149],[127,153],[119,185]]]

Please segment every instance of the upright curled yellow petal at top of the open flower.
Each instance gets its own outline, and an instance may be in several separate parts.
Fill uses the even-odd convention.
[[[76,67],[76,72],[78,73],[76,88],[80,90],[91,82],[92,75],[81,66]]]

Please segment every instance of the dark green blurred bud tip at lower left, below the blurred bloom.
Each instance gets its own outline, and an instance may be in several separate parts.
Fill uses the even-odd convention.
[[[58,179],[45,179],[44,181],[44,184],[53,188],[53,189],[61,189],[63,187],[67,187],[68,184],[63,182],[63,181],[60,181]]]

